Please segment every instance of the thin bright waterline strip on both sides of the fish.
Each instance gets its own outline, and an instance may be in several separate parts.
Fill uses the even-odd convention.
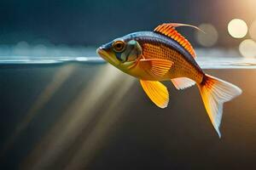
[[[256,59],[241,57],[198,57],[197,63],[202,69],[255,69]],[[105,61],[100,57],[12,57],[12,59],[0,59],[0,65],[31,65],[31,64],[63,64],[63,63],[80,63],[80,64],[103,64]]]

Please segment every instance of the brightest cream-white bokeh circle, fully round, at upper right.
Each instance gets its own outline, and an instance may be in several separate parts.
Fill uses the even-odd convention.
[[[240,19],[230,20],[228,31],[231,37],[242,38],[247,35],[247,23]]]

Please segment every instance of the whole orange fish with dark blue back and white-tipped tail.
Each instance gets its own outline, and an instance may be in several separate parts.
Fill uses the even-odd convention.
[[[187,24],[163,23],[154,31],[137,31],[115,38],[97,48],[96,53],[120,71],[139,79],[148,98],[162,109],[169,103],[169,92],[162,82],[171,81],[177,89],[196,84],[212,126],[221,138],[224,102],[240,95],[241,88],[202,71],[195,61],[195,49],[177,31],[179,26],[200,30]]]

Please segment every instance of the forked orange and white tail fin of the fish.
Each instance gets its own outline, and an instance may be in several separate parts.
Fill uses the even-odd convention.
[[[201,84],[198,85],[201,98],[210,117],[213,127],[218,133],[219,138],[219,125],[222,118],[223,104],[230,99],[235,98],[241,94],[241,89],[231,84],[224,82],[216,77],[205,75]]]

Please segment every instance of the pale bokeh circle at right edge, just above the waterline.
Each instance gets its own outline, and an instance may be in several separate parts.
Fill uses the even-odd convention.
[[[242,56],[246,58],[253,58],[256,56],[256,42],[252,39],[246,39],[239,45],[239,51]]]

